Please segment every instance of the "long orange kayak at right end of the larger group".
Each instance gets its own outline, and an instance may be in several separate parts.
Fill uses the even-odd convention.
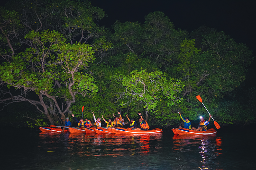
[[[160,128],[155,128],[153,130],[131,130],[131,128],[112,128],[115,134],[153,134],[162,133],[163,130]]]

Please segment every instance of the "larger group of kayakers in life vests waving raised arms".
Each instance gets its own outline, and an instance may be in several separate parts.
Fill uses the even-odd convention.
[[[119,116],[115,116],[113,114],[113,116],[115,117],[115,119],[113,121],[111,121],[111,119],[109,119],[108,121],[106,121],[103,116],[102,119],[106,122],[107,126],[106,127],[119,127],[119,128],[123,128],[124,124],[128,124],[128,122],[124,122],[124,119],[122,119],[122,116],[120,114],[120,112],[118,112]],[[92,111],[92,115],[93,115],[93,119],[95,121],[94,125],[92,125],[91,121],[88,120],[87,118],[85,120],[83,120],[82,118],[80,119],[80,121],[74,117],[74,114],[72,114],[71,116],[74,117],[74,119],[76,120],[76,122],[78,123],[77,128],[86,128],[86,127],[101,127],[101,118],[95,118],[94,112]],[[147,124],[146,120],[143,119],[143,117],[141,116],[141,113],[138,113],[138,115],[140,116],[139,122],[140,122],[140,128],[137,127],[137,123],[136,121],[134,121],[134,119],[129,119],[128,115],[126,115],[127,119],[130,122],[130,128],[132,128],[132,130],[148,130],[149,129],[149,125]],[[62,119],[62,118],[61,118]],[[63,119],[62,119],[63,120]],[[66,118],[66,121],[63,120],[65,122],[65,126],[63,128],[63,131],[66,127],[70,127],[71,126],[71,122],[69,121],[69,118]]]

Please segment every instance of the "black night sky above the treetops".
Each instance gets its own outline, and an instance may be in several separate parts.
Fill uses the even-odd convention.
[[[0,0],[1,6],[8,0]],[[245,43],[256,56],[256,0],[91,0],[108,17],[100,24],[111,27],[116,20],[143,23],[150,12],[163,11],[175,28],[191,32],[205,25],[224,31],[236,42]],[[247,74],[247,83],[256,83],[256,59]],[[253,83],[252,83],[253,82]]]

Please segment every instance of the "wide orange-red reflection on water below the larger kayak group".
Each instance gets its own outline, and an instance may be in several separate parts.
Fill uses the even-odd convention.
[[[68,148],[71,155],[78,156],[124,156],[147,155],[161,149],[157,142],[162,141],[162,134],[74,134],[40,133],[42,144],[53,150],[51,144],[59,143]],[[45,143],[44,141],[46,141]]]

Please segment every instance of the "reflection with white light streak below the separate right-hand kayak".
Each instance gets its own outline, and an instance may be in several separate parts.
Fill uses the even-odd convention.
[[[177,152],[186,152],[193,150],[196,146],[199,148],[198,152],[201,155],[201,170],[208,170],[210,161],[220,157],[222,154],[221,137],[216,135],[209,136],[173,136],[174,150]],[[189,154],[189,153],[188,153]],[[219,169],[220,170],[220,169]]]

